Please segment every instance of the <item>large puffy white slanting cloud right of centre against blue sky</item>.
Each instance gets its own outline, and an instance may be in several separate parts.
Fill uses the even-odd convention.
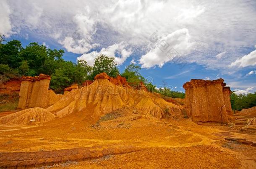
[[[162,67],[164,63],[172,61],[175,57],[188,54],[192,47],[188,29],[176,30],[159,39],[155,47],[141,57],[139,63],[142,68],[151,68],[155,65]]]

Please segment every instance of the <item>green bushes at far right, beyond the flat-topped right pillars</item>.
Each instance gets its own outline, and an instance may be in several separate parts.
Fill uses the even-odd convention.
[[[234,92],[230,95],[231,107],[233,110],[242,110],[256,106],[256,92],[237,95]]]

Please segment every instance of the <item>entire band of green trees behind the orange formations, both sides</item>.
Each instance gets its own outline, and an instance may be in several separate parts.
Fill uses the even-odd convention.
[[[56,93],[61,93],[71,84],[93,80],[94,76],[102,72],[111,77],[120,74],[113,57],[100,54],[95,59],[94,66],[89,66],[86,61],[65,61],[62,58],[63,53],[64,50],[52,50],[38,43],[29,43],[24,48],[19,40],[5,42],[0,35],[0,80],[5,82],[10,78],[38,76],[44,73],[52,77],[50,88]],[[141,76],[140,70],[140,66],[131,64],[120,75],[125,77],[131,86],[136,86],[142,81],[150,92],[161,93],[163,97],[185,98],[185,93],[172,91],[165,86],[166,84],[163,88],[157,89]],[[234,110],[256,106],[256,93],[236,95],[233,92],[230,98]]]

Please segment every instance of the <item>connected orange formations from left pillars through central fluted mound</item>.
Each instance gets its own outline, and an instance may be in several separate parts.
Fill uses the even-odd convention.
[[[39,77],[23,77],[18,108],[29,108],[29,106],[42,108],[19,111],[24,115],[17,112],[12,116],[5,116],[5,118],[1,119],[1,123],[7,125],[20,123],[24,125],[28,123],[29,119],[34,118],[34,115],[44,118],[42,114],[47,114],[50,120],[72,113],[83,113],[89,119],[99,119],[100,116],[124,106],[128,106],[133,110],[136,109],[141,114],[153,116],[157,119],[161,119],[164,114],[170,114],[171,116],[180,116],[182,114],[178,105],[165,101],[155,93],[131,88],[126,79],[119,76],[111,78],[106,73],[100,73],[95,76],[95,81],[89,86],[81,88],[71,86],[69,88],[71,90],[68,93],[60,96],[56,95],[52,90],[48,90],[49,83],[50,76],[40,74]],[[33,116],[30,116],[31,114]],[[9,123],[8,121],[14,117],[16,118],[15,122]]]

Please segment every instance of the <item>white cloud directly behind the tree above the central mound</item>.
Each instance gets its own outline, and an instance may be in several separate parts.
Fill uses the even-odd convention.
[[[123,62],[131,55],[132,51],[130,48],[127,49],[127,45],[124,42],[119,44],[111,45],[107,48],[102,48],[99,52],[92,51],[91,53],[84,53],[77,60],[85,60],[91,66],[94,64],[95,58],[100,54],[103,53],[110,57],[115,57],[115,61],[118,65],[123,64]],[[116,55],[118,54],[118,55]]]

